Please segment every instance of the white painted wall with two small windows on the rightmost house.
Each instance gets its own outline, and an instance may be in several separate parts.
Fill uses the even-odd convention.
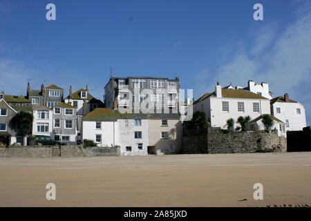
[[[281,113],[276,113],[276,108],[281,108]],[[300,108],[301,114],[296,112],[296,108]],[[286,119],[288,119],[290,127],[287,127],[287,131],[302,131],[303,128],[307,126],[305,107],[299,102],[275,102],[272,105],[272,113],[274,117],[281,119],[284,123],[286,123]]]

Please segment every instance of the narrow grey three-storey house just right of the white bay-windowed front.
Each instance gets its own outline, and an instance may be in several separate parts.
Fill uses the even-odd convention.
[[[77,144],[77,107],[64,102],[53,108],[54,140]]]

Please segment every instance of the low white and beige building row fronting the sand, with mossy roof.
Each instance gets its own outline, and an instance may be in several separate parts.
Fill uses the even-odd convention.
[[[120,113],[97,108],[83,117],[83,139],[98,146],[120,146],[121,155],[173,154],[180,151],[179,114]]]

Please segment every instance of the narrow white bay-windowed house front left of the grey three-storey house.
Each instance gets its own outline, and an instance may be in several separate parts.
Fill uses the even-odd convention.
[[[53,139],[53,109],[46,106],[32,108],[32,135],[45,135]]]

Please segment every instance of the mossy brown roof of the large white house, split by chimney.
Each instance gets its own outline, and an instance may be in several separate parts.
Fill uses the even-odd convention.
[[[222,97],[228,97],[228,98],[246,98],[246,99],[267,99],[261,95],[255,94],[250,92],[249,90],[243,90],[243,89],[221,89]],[[202,101],[203,99],[207,99],[208,97],[216,97],[216,93],[206,93],[202,97],[200,97],[198,100],[196,100],[195,103]]]

